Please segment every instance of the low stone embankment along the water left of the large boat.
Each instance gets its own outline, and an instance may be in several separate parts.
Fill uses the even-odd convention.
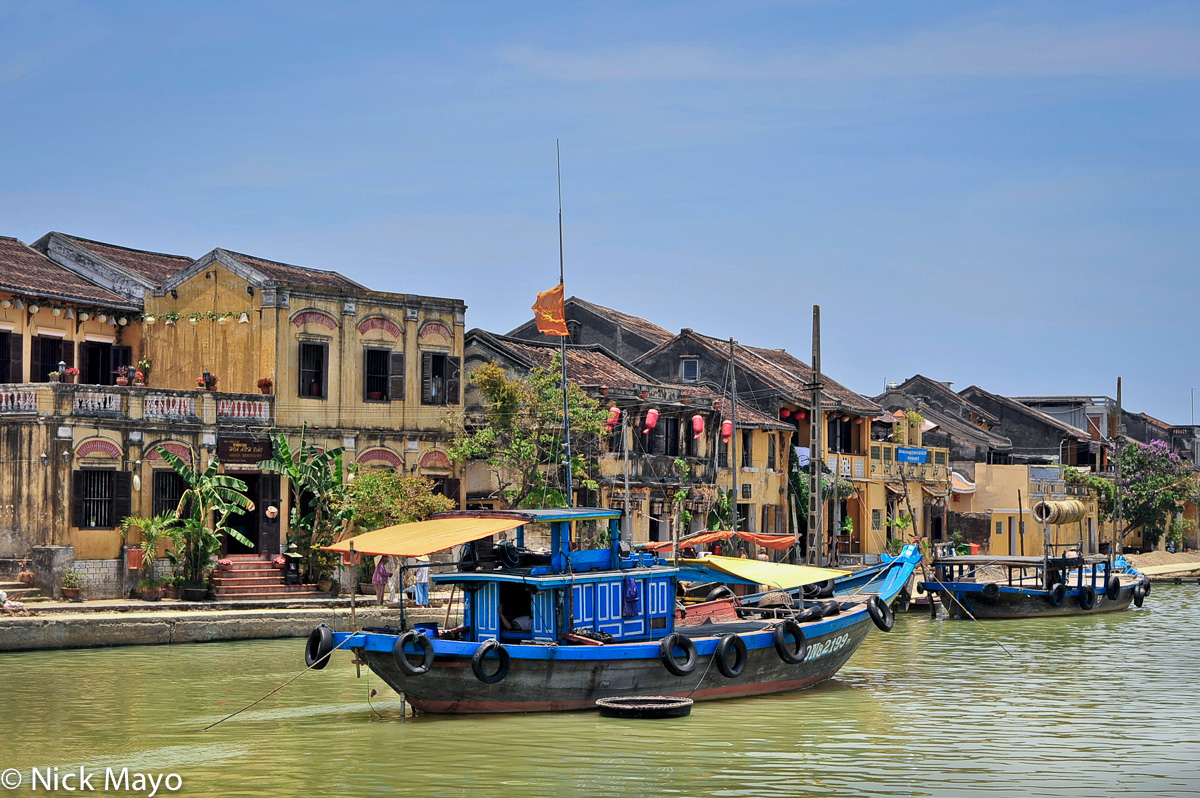
[[[28,605],[29,616],[0,616],[0,652],[104,646],[164,646],[305,637],[317,624],[350,629],[346,600],[271,602],[89,601]],[[458,623],[460,607],[450,614]],[[444,607],[408,608],[409,624],[445,620]],[[400,625],[400,610],[359,606],[359,626]]]

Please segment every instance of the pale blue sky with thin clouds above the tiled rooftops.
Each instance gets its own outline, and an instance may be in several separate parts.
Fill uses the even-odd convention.
[[[1200,388],[1194,2],[0,0],[0,235],[566,293],[809,360]]]

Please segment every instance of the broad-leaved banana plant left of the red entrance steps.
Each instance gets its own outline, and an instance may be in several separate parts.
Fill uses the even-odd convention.
[[[202,472],[162,446],[158,448],[158,455],[187,485],[175,509],[175,517],[182,522],[184,578],[192,587],[203,587],[204,572],[209,560],[221,550],[222,535],[227,534],[244,546],[254,545],[228,524],[229,516],[253,510],[254,503],[246,496],[244,481],[217,473],[221,468],[218,458],[214,457]],[[196,462],[194,451],[192,462]]]

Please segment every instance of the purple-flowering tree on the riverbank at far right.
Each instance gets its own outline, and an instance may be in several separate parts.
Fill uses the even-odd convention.
[[[1117,457],[1121,463],[1117,503],[1126,522],[1121,539],[1140,527],[1142,540],[1154,546],[1170,530],[1183,503],[1195,494],[1195,474],[1162,440],[1124,445]]]

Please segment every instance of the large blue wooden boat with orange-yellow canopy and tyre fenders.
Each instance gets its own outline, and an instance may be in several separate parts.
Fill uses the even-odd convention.
[[[592,709],[607,697],[702,701],[799,690],[834,676],[872,626],[890,629],[888,605],[920,560],[910,547],[870,584],[823,601],[750,601],[720,622],[701,613],[684,619],[676,606],[682,570],[713,581],[746,580],[701,560],[680,566],[629,553],[619,542],[570,550],[572,523],[607,522],[610,539],[618,541],[618,518],[617,511],[598,509],[458,512],[404,524],[408,532],[394,527],[338,544],[334,548],[343,553],[415,556],[428,553],[422,551],[428,546],[436,545],[432,552],[516,532],[515,546],[478,544],[456,570],[433,577],[463,592],[461,628],[449,634],[403,628],[335,634],[318,626],[306,661],[323,667],[335,649],[349,649],[430,713]],[[530,523],[551,526],[548,554],[523,548]],[[434,530],[427,524],[440,526]],[[812,581],[821,582],[830,574],[781,568],[811,571]],[[528,629],[509,628],[517,617],[528,618]]]

